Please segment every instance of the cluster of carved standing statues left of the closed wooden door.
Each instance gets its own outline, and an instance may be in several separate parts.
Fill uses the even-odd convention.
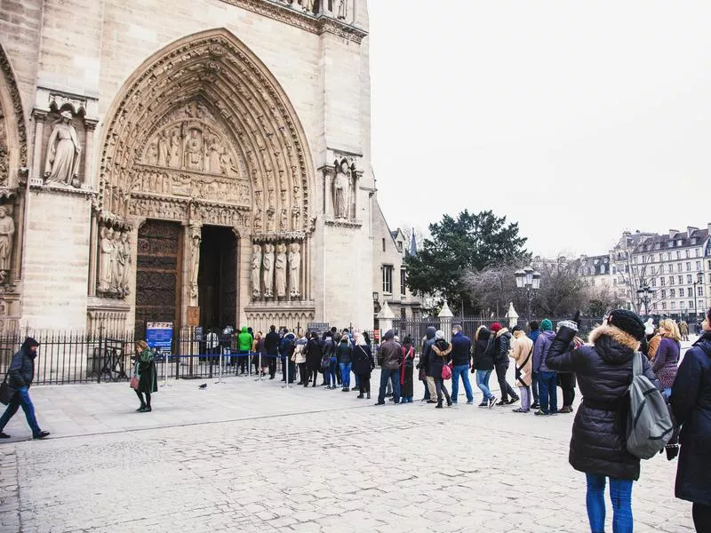
[[[126,298],[131,276],[131,235],[126,230],[102,226],[99,241],[99,282],[104,296]]]

